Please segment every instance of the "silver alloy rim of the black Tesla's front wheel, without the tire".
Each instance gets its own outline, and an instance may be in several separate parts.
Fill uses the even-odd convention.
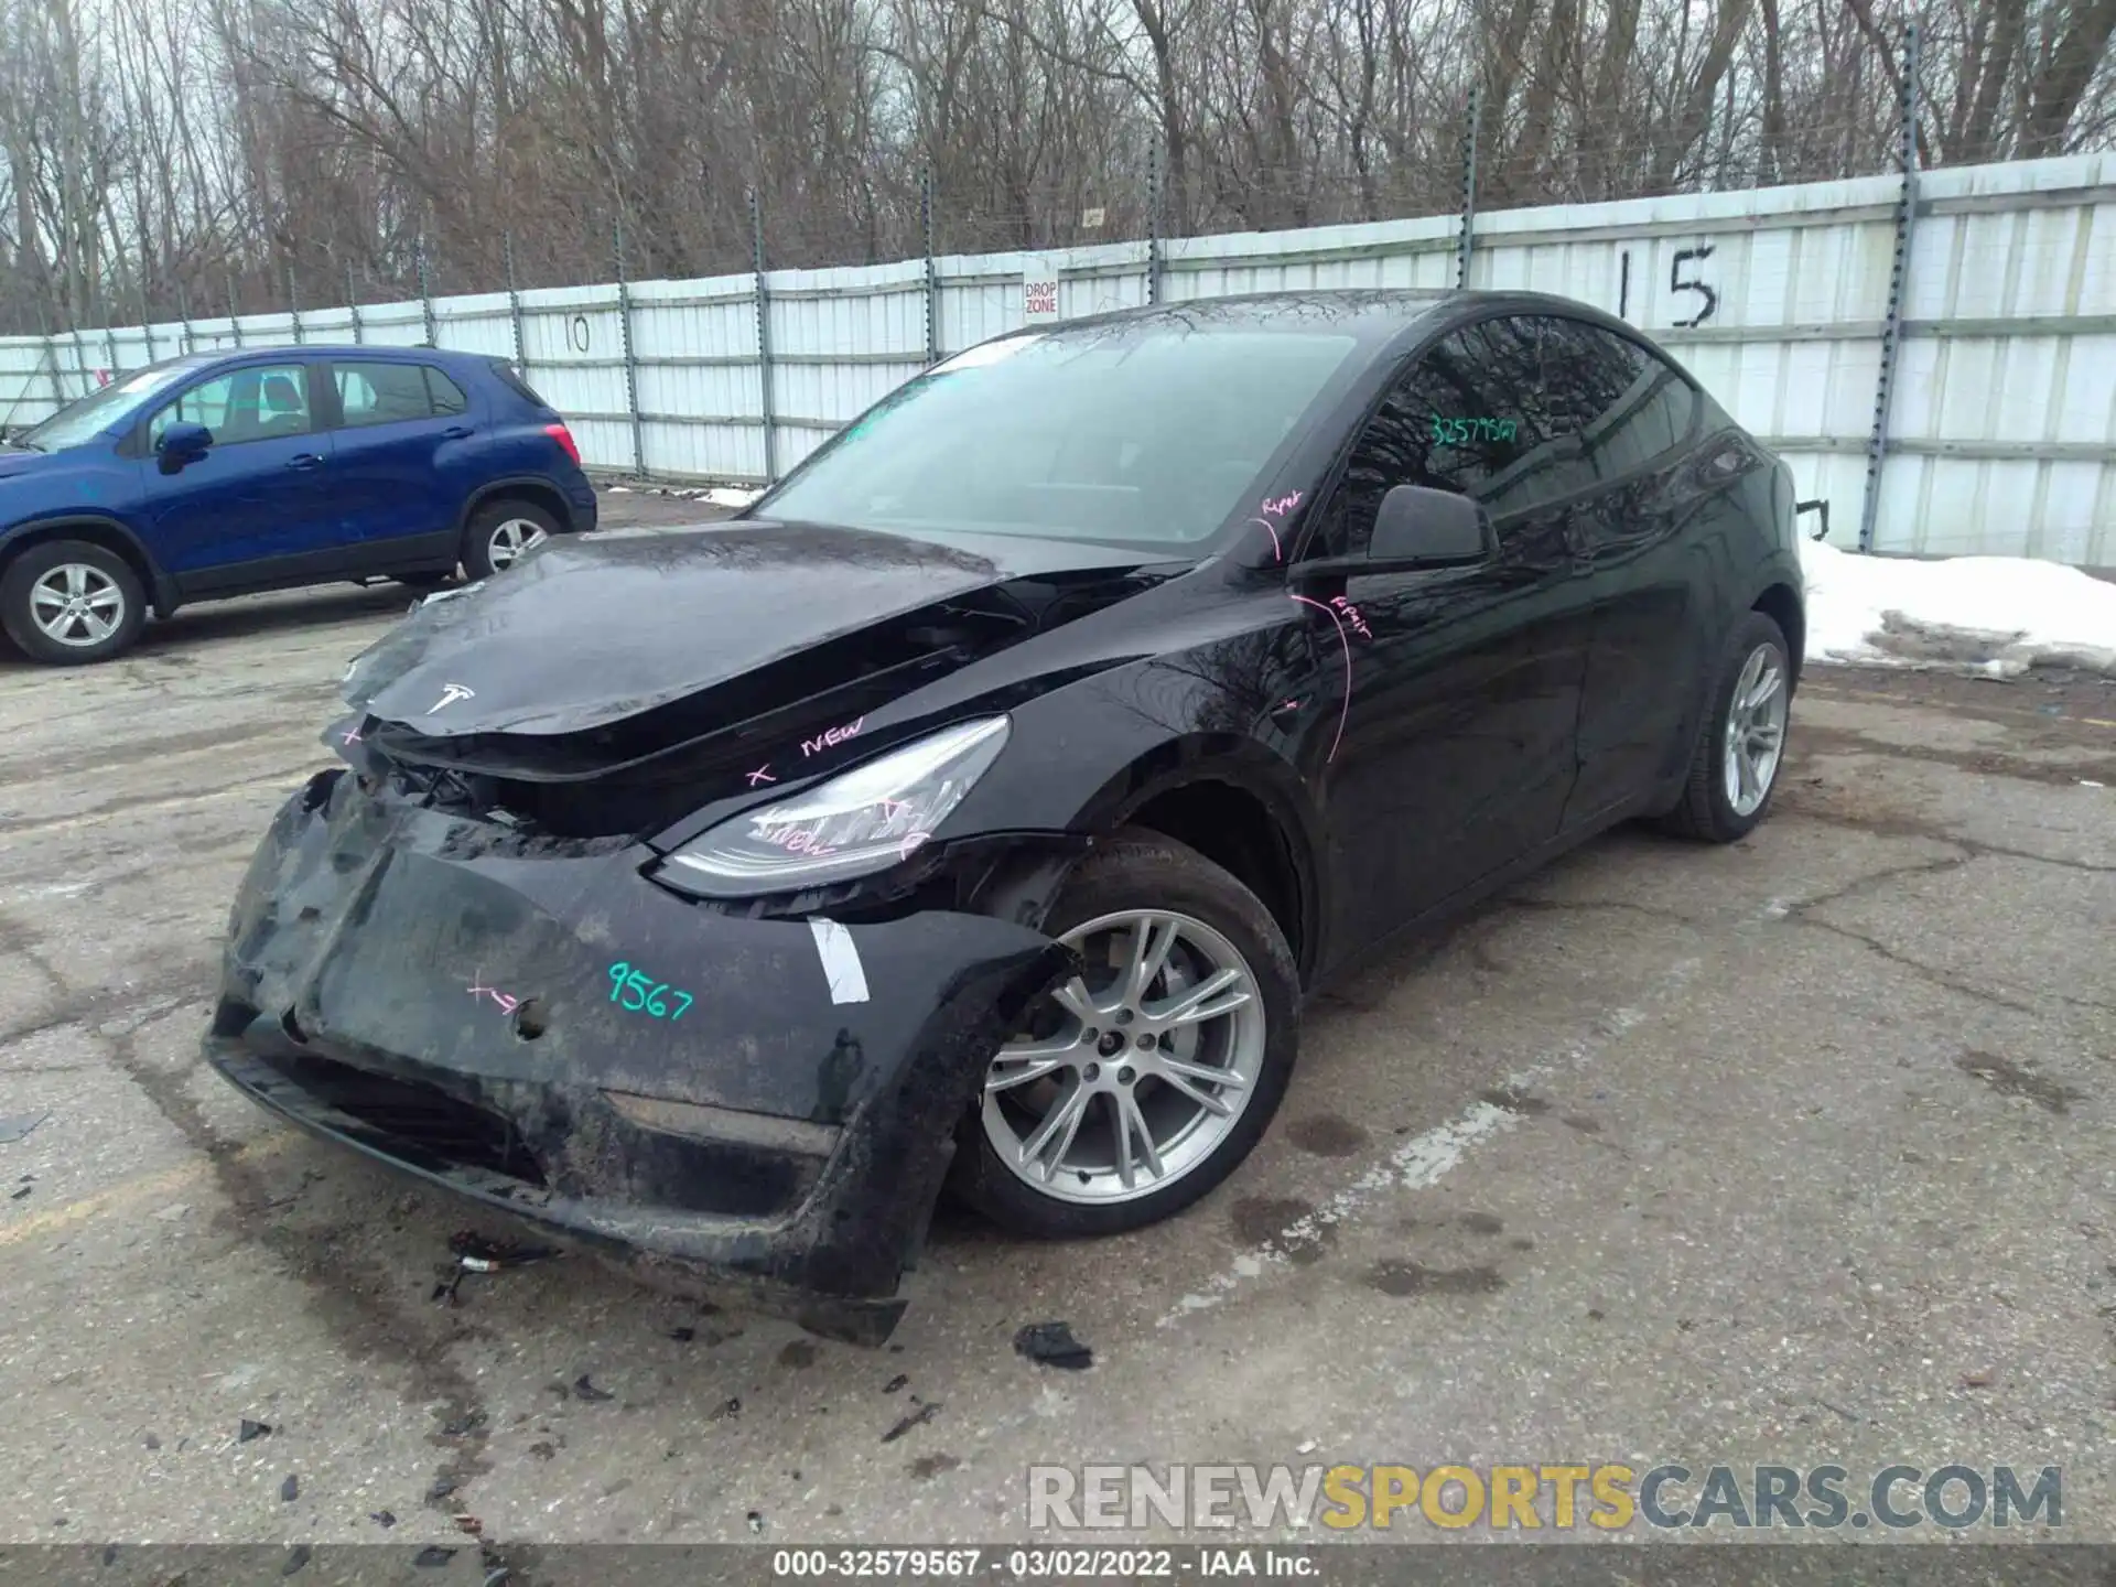
[[[1073,927],[1088,975],[1052,992],[984,1079],[984,1136],[1060,1202],[1136,1202],[1227,1138],[1263,1073],[1257,978],[1189,914],[1124,910]]]

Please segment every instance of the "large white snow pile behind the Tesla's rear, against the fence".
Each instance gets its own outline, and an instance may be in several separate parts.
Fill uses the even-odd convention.
[[[2116,584],[2029,557],[1921,563],[1801,542],[1807,656],[1957,667],[2017,677],[2036,664],[2116,677]]]

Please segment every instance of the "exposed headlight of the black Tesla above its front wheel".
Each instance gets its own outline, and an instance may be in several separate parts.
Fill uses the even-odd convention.
[[[700,897],[827,887],[910,859],[1007,747],[1007,717],[944,728],[692,838],[656,874]]]

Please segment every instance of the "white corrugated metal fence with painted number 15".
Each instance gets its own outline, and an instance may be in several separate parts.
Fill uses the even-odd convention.
[[[1898,178],[1477,216],[1471,286],[1557,292],[1655,334],[1830,501],[1858,544]],[[1181,237],[1166,300],[1445,288],[1460,220]],[[1149,245],[635,281],[0,339],[0,425],[186,349],[421,345],[514,360],[584,459],[762,482],[925,368],[1024,324],[1024,271],[1066,317],[1141,305]],[[1919,178],[1875,550],[2116,565],[2116,157]],[[762,330],[762,343],[760,343]],[[760,362],[768,345],[770,364]]]

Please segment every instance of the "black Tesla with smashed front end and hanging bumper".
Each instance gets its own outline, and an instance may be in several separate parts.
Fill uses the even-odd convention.
[[[1280,294],[984,343],[730,523],[554,540],[345,679],[209,1060],[836,1337],[944,1185],[1176,1212],[1301,999],[1631,817],[1763,819],[1782,461],[1625,324]]]

